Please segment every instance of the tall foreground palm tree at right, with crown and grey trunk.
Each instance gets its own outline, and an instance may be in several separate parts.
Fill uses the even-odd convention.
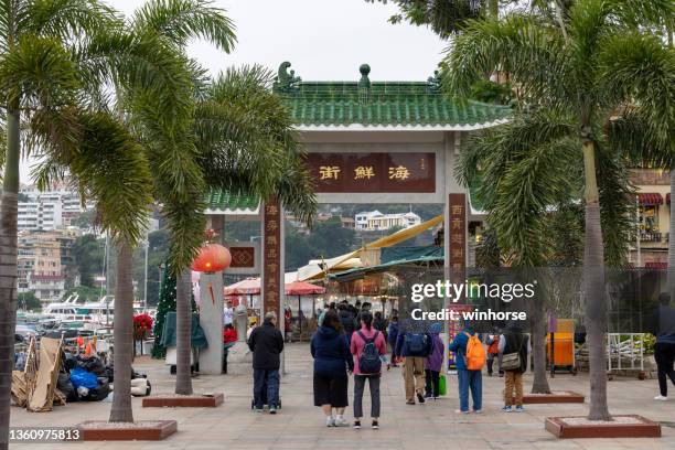
[[[533,107],[559,119],[554,124],[568,124],[544,129],[551,131],[547,137],[551,146],[561,139],[577,142],[585,181],[590,419],[610,419],[603,346],[604,261],[606,249],[612,249],[603,245],[609,233],[603,234],[601,213],[614,213],[603,196],[615,193],[599,189],[598,175],[606,162],[608,168],[617,162],[617,152],[607,146],[606,126],[622,107],[636,103],[645,108],[650,132],[664,140],[672,132],[667,124],[675,105],[673,52],[661,41],[658,30],[673,23],[674,8],[671,1],[660,0],[579,0],[557,23],[517,12],[503,20],[472,21],[444,61],[444,82],[461,94],[496,71],[508,73]]]

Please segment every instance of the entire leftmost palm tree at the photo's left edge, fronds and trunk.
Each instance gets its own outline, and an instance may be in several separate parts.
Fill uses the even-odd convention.
[[[21,142],[38,154],[39,188],[67,173],[84,197],[96,200],[101,225],[135,243],[149,200],[149,170],[136,139],[114,117],[97,113],[76,49],[116,22],[95,0],[0,4],[0,448],[7,448],[17,307],[17,201]]]

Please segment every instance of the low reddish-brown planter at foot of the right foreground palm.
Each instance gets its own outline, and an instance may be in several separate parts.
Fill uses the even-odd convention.
[[[660,438],[661,425],[642,416],[614,416],[614,421],[590,421],[585,417],[547,417],[546,431],[559,439]]]

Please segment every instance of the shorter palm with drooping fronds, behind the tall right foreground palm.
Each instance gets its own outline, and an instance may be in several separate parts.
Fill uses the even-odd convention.
[[[528,306],[532,324],[534,379],[532,392],[549,394],[546,378],[546,318],[545,286],[554,283],[554,274],[542,270],[548,266],[575,265],[577,256],[560,257],[556,248],[568,247],[553,235],[551,225],[562,221],[565,228],[576,227],[576,217],[567,211],[582,196],[583,167],[580,164],[580,143],[570,137],[574,125],[564,122],[547,109],[519,111],[505,126],[485,131],[471,139],[458,160],[456,172],[464,185],[480,178],[478,194],[489,212],[488,223],[510,266],[517,275],[536,278],[539,296]],[[630,189],[623,181],[625,168],[619,161],[606,161],[600,156],[600,190],[612,193],[603,196],[602,221],[606,231],[607,262],[619,266],[628,250],[631,229],[629,205],[623,195]],[[480,168],[480,169],[479,169]],[[612,204],[611,208],[607,206]],[[551,207],[555,210],[551,212]],[[609,214],[611,210],[625,214]],[[618,222],[617,222],[618,221]],[[574,243],[571,243],[574,244]],[[613,260],[610,256],[619,257]]]

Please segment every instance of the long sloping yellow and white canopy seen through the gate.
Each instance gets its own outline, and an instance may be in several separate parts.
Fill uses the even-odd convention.
[[[400,229],[389,236],[385,236],[369,244],[366,244],[358,250],[355,250],[355,251],[352,251],[345,255],[336,256],[330,259],[312,260],[307,266],[300,267],[298,269],[298,279],[302,281],[315,280],[315,279],[323,278],[326,271],[330,274],[331,271],[335,271],[335,270],[344,270],[343,265],[352,258],[358,258],[361,253],[364,250],[390,247],[398,243],[403,243],[404,240],[415,237],[424,233],[426,229],[437,226],[442,222],[443,222],[443,215],[441,214],[427,222],[422,222],[419,225],[415,225],[409,228]]]

